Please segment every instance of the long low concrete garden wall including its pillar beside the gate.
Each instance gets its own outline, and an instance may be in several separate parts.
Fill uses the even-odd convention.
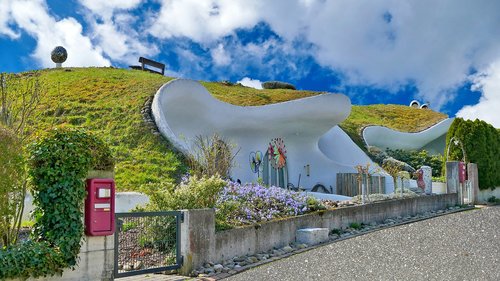
[[[413,216],[455,206],[457,201],[456,193],[389,200],[217,233],[214,210],[186,210],[181,240],[181,253],[184,256],[182,272],[188,274],[205,262],[221,262],[235,256],[252,255],[273,247],[283,247],[295,241],[295,231],[301,228],[323,227],[332,230],[345,228],[351,222],[383,222],[388,218]]]

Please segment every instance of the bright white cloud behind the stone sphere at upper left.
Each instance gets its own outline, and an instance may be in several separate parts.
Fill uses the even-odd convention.
[[[74,18],[57,21],[42,0],[16,0],[10,4],[9,21],[36,39],[37,46],[32,56],[43,67],[54,66],[50,52],[57,45],[68,50],[65,66],[110,65],[100,48],[93,46],[91,40],[82,34],[82,26]]]

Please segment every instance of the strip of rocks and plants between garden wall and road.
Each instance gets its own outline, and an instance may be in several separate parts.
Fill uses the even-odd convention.
[[[270,250],[264,254],[256,254],[256,255],[251,255],[248,257],[234,257],[232,260],[235,264],[235,267],[231,268],[230,270],[227,270],[228,269],[226,267],[227,261],[225,261],[222,264],[208,263],[206,265],[208,265],[209,267],[204,267],[202,269],[198,269],[197,271],[195,271],[193,273],[195,275],[198,275],[196,280],[202,280],[202,281],[221,280],[221,279],[227,278],[229,276],[232,276],[234,274],[246,271],[248,269],[251,269],[251,268],[254,268],[257,266],[261,266],[261,265],[267,264],[267,263],[272,262],[272,261],[287,258],[287,257],[290,257],[290,256],[295,255],[295,254],[307,252],[307,251],[310,251],[310,250],[313,250],[313,249],[316,249],[318,247],[322,247],[322,246],[325,246],[325,245],[328,245],[331,243],[355,238],[355,237],[358,237],[361,235],[365,235],[365,234],[372,233],[372,232],[379,231],[379,230],[383,230],[383,229],[388,229],[388,228],[395,227],[395,226],[410,224],[410,223],[419,222],[419,221],[423,221],[423,220],[427,220],[427,219],[431,219],[431,218],[435,218],[435,217],[439,217],[439,216],[443,216],[443,215],[448,215],[448,214],[453,214],[453,213],[463,212],[463,211],[468,211],[468,210],[473,210],[473,209],[475,209],[475,207],[473,207],[473,206],[472,207],[464,207],[464,208],[455,206],[455,207],[449,207],[445,210],[438,210],[438,211],[425,212],[423,214],[417,214],[417,215],[412,216],[412,217],[405,217],[405,218],[397,217],[394,219],[387,219],[382,224],[368,225],[367,227],[360,229],[360,230],[344,231],[340,235],[330,234],[329,241],[324,242],[324,243],[320,243],[317,245],[312,245],[312,246],[308,246],[306,244],[294,244],[292,246],[287,245],[287,246],[283,247],[282,249],[273,249],[273,250]],[[268,257],[266,257],[266,256],[268,256]],[[239,266],[239,264],[240,264],[240,262],[238,262],[239,260],[241,260],[241,262],[245,263],[247,260],[252,259],[252,258],[254,260],[256,259],[256,261],[253,263],[250,263],[250,264],[246,264],[244,266]],[[223,264],[225,264],[226,266]],[[201,272],[200,270],[203,270],[203,272]],[[205,273],[208,273],[208,275]]]

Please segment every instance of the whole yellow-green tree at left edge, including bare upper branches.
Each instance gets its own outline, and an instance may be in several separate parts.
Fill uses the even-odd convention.
[[[40,104],[44,88],[36,73],[0,73],[0,237],[3,246],[16,243],[24,211],[27,173],[26,124]]]

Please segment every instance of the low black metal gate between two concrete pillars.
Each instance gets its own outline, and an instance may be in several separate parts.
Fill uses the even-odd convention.
[[[116,213],[114,276],[178,269],[180,211]]]

